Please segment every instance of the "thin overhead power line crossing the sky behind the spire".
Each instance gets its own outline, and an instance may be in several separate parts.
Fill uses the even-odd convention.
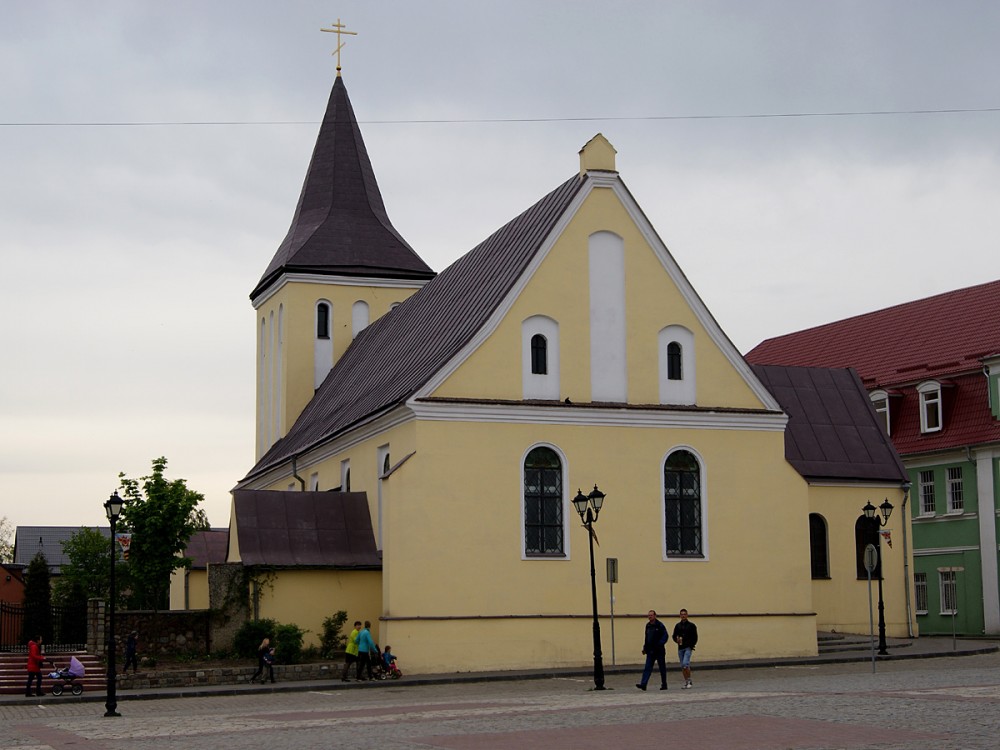
[[[363,125],[463,125],[497,123],[546,123],[546,122],[624,122],[624,121],[670,121],[670,120],[762,120],[776,118],[806,117],[884,117],[886,115],[952,115],[1000,112],[1000,107],[968,107],[955,109],[884,109],[845,112],[762,112],[729,115],[640,115],[602,117],[497,117],[475,119],[431,119],[431,120],[359,120]],[[149,122],[0,122],[0,127],[190,127],[190,126],[270,126],[270,125],[318,125],[319,120],[219,120],[219,121],[149,121]]]

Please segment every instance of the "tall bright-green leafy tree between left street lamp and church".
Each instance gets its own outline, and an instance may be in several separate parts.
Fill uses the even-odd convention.
[[[132,534],[129,605],[135,609],[169,606],[171,573],[191,565],[191,559],[179,553],[194,532],[209,528],[205,512],[198,507],[204,495],[188,489],[183,479],[167,479],[166,468],[167,459],[161,456],[153,460],[150,476],[118,475],[125,500],[118,530]]]

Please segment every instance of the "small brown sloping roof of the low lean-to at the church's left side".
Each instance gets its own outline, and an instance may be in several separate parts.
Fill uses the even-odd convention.
[[[382,567],[363,492],[236,490],[233,498],[244,565]]]

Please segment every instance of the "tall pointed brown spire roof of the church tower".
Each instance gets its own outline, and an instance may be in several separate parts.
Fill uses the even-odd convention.
[[[339,76],[288,235],[250,298],[255,299],[282,273],[397,279],[434,276],[389,221],[344,79]]]

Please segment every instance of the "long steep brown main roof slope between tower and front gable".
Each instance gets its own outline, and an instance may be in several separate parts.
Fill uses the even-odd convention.
[[[486,323],[585,179],[564,182],[362,331],[248,478],[413,395]]]

